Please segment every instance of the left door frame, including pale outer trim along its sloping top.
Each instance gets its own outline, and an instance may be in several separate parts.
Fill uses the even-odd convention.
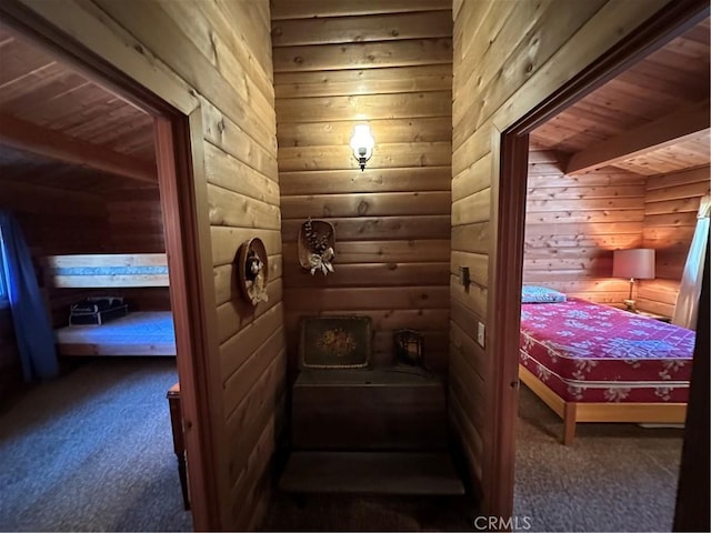
[[[117,47],[119,39],[106,39],[97,19],[72,18],[61,3],[3,0],[0,22],[154,118],[193,526],[219,530],[221,404],[211,363],[219,346],[200,102],[176,78],[147,68],[139,43],[127,52]]]

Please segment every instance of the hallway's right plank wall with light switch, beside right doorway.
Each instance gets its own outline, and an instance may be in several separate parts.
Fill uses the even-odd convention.
[[[493,386],[487,388],[493,369],[505,354],[489,342],[490,338],[485,349],[475,342],[477,321],[489,322],[489,288],[497,275],[493,269],[491,274],[488,272],[489,258],[495,251],[495,227],[491,221],[491,198],[499,179],[498,154],[492,153],[498,151],[495,132],[513,124],[664,3],[458,2],[453,42],[452,265],[460,263],[457,255],[462,254],[474,284],[464,292],[455,276],[450,281],[450,419],[461,435],[471,477],[482,484],[484,513],[489,496],[497,497],[497,486],[509,483],[497,477],[501,451],[493,445],[489,432],[494,392]]]

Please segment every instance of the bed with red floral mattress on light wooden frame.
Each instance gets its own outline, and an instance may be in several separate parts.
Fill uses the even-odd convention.
[[[521,306],[519,375],[563,419],[683,423],[694,332],[577,298]]]

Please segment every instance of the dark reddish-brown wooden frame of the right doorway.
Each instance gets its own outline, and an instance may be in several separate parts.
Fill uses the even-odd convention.
[[[708,17],[708,7],[673,7],[662,10],[654,20],[644,23],[627,41],[621,42],[563,89],[541,102],[511,128],[501,131],[499,189],[494,195],[498,221],[495,264],[523,265],[525,183],[528,173],[529,134],[562,110],[608,82],[631,64],[659,49],[672,38]],[[498,148],[498,147],[497,147]],[[505,213],[505,214],[503,214]],[[515,272],[512,274],[512,272]],[[513,472],[515,454],[515,415],[518,405],[518,335],[511,335],[512,324],[520,324],[521,269],[509,269],[497,275],[491,308],[494,318],[492,338],[499,346],[498,368],[492,391],[494,449],[500,457],[493,467],[494,479],[501,482],[491,497],[491,514],[511,516],[513,513]],[[514,289],[512,289],[512,286]],[[507,339],[507,332],[509,338]]]

